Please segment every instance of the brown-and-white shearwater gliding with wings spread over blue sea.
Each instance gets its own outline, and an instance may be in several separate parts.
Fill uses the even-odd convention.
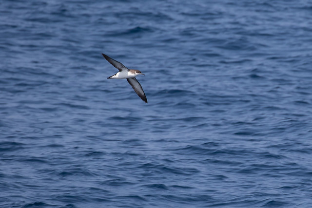
[[[136,79],[136,76],[144,75],[144,74],[142,74],[140,71],[135,70],[135,69],[128,69],[127,67],[122,65],[122,63],[118,62],[117,60],[114,60],[111,57],[106,56],[105,54],[102,54],[102,55],[108,62],[110,62],[115,68],[117,68],[119,70],[119,72],[117,72],[117,74],[110,76],[110,77],[107,77],[107,78],[108,79],[127,79],[127,81],[132,86],[132,88],[135,90],[137,95],[144,102],[147,103],[147,99],[146,99],[145,93],[143,91],[143,88]]]

